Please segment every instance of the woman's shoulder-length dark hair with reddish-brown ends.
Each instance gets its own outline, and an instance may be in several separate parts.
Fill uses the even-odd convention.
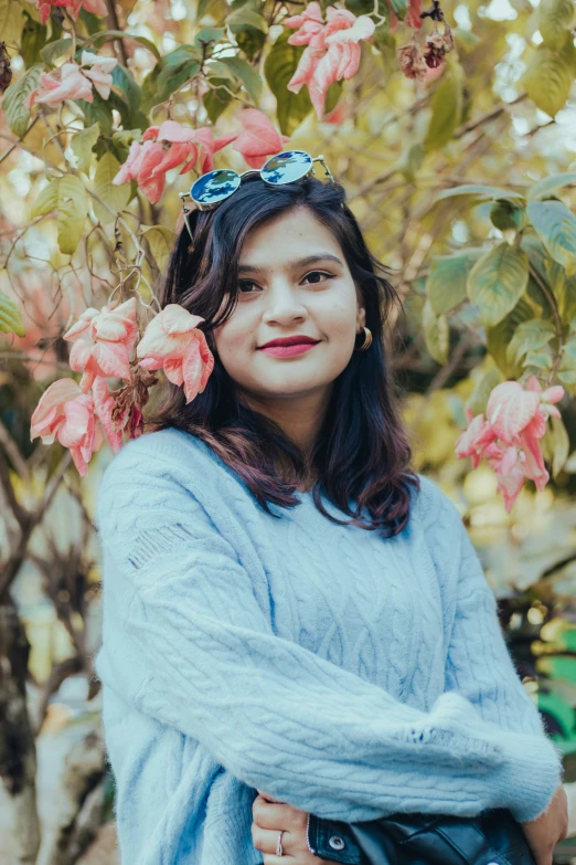
[[[212,330],[226,321],[237,298],[237,264],[248,232],[295,208],[307,208],[339,242],[366,310],[373,335],[366,351],[354,351],[334,381],[318,439],[307,457],[270,419],[249,408],[224,369]],[[194,210],[182,229],[159,292],[162,307],[180,304],[205,320],[200,325],[215,366],[203,393],[188,405],[182,388],[167,382],[163,401],[147,429],[177,426],[205,442],[247,485],[266,511],[268,504],[298,504],[297,484],[310,467],[318,479],[313,502],[332,521],[349,521],[397,535],[409,518],[410,486],[419,488],[403,428],[394,381],[384,357],[384,328],[399,298],[386,278],[391,270],[367,250],[340,183],[309,179],[270,189],[258,176],[214,211]],[[227,302],[222,308],[224,298]],[[221,310],[220,316],[217,316]],[[362,331],[360,345],[364,339]],[[279,471],[288,468],[289,482]],[[322,506],[321,493],[352,520]],[[352,506],[352,507],[351,507]],[[366,507],[370,519],[360,516]]]

